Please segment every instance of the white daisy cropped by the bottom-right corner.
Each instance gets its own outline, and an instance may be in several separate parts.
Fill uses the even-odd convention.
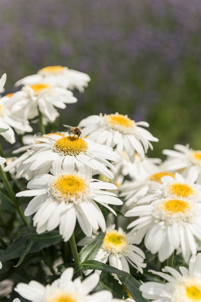
[[[200,302],[201,301],[201,254],[192,256],[189,270],[180,266],[181,274],[165,266],[162,272],[150,270],[166,282],[146,282],[140,286],[142,296],[155,302]],[[168,274],[165,274],[168,273]]]

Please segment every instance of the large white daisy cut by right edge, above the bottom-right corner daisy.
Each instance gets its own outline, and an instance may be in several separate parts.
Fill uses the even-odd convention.
[[[201,239],[200,200],[165,198],[125,213],[125,217],[137,216],[140,217],[128,228],[134,227],[133,232],[137,230],[136,244],[146,234],[144,244],[152,254],[159,252],[160,262],[164,262],[180,247],[186,262],[191,254],[196,255],[196,238]]]

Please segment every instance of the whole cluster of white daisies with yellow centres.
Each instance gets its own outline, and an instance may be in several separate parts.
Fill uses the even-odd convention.
[[[4,74],[0,90],[5,81]],[[90,244],[101,230],[105,235],[94,260],[109,262],[127,273],[135,268],[143,274],[147,251],[157,254],[161,263],[173,259],[176,251],[185,262],[190,259],[189,271],[180,267],[181,275],[169,266],[163,271],[172,276],[152,271],[168,283],[141,285],[143,297],[157,302],[201,301],[201,256],[196,257],[201,246],[201,151],[175,145],[176,151],[163,150],[168,156],[164,162],[148,158],[148,148],[153,149],[151,142],[158,141],[143,128],[149,124],[119,113],[81,120],[77,128],[82,136],[68,130],[46,134],[44,126],[59,115],[55,107],[64,109],[66,103],[76,102],[70,90],[83,92],[89,81],[82,72],[47,66],[18,81],[16,86],[23,85],[20,91],[0,99],[1,135],[8,142],[15,142],[14,130],[18,135],[32,132],[29,122],[34,119],[42,132],[24,136],[24,145],[13,151],[12,159],[0,158],[0,174],[11,198],[4,172],[13,180],[29,181],[28,190],[18,192],[16,197],[33,198],[24,213],[16,204],[18,214],[23,221],[31,216],[38,234],[58,229],[64,242],[72,240],[78,223],[86,237],[77,246]],[[112,213],[107,219],[103,207]],[[121,225],[117,217],[116,226],[111,222],[116,211],[135,220],[124,218]],[[128,233],[125,221],[127,229],[132,228]],[[144,251],[138,246],[143,239]],[[88,269],[85,275],[92,272]],[[31,281],[18,284],[15,291],[32,302],[110,301],[108,291],[88,295],[100,273],[95,270],[81,283],[79,278],[71,281],[73,269],[68,268],[51,285],[44,287]]]

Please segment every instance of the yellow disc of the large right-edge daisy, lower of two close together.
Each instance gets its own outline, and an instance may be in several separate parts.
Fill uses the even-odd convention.
[[[178,212],[185,213],[190,209],[190,205],[184,200],[171,199],[164,202],[163,208],[165,211],[170,212],[170,214],[175,214]]]

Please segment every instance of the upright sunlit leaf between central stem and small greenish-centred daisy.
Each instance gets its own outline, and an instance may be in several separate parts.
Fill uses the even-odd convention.
[[[105,233],[100,233],[92,242],[84,246],[79,252],[79,261],[80,263],[87,260],[94,260],[97,255],[98,250],[100,249]]]

